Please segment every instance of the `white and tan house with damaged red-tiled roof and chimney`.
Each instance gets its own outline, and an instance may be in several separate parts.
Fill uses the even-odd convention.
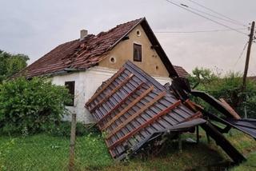
[[[16,76],[47,76],[56,85],[66,85],[74,96],[67,109],[77,113],[78,121],[90,123],[94,119],[85,102],[128,60],[162,84],[187,75],[171,64],[146,18],[139,18],[98,35],[81,30],[79,39],[57,46]]]

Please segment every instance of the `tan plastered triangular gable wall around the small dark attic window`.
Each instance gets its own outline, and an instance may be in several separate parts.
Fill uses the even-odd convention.
[[[134,61],[134,44],[142,46],[142,62]],[[169,77],[170,75],[141,24],[135,26],[124,40],[114,46],[98,65],[118,70],[128,60],[152,76]]]

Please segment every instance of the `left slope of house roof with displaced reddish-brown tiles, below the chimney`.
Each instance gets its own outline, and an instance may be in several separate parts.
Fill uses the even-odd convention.
[[[51,50],[38,61],[27,66],[16,76],[25,75],[34,77],[38,75],[53,74],[65,70],[87,69],[97,64],[106,52],[111,50],[116,42],[137,26],[143,18],[126,22],[98,35],[89,34],[82,41],[79,39],[63,43]],[[15,76],[14,76],[15,77]]]

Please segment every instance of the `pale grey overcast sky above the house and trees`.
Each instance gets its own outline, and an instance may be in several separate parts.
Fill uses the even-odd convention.
[[[204,10],[189,0],[174,0],[178,4]],[[249,26],[256,20],[255,0],[194,0],[203,6],[225,14]],[[225,30],[205,18],[174,6],[165,0],[0,0],[0,49],[27,54],[30,63],[63,42],[79,38],[79,30],[98,34],[136,18],[146,17],[152,30],[206,31]],[[210,13],[213,14],[213,13]],[[210,16],[202,14],[207,18]],[[217,15],[217,14],[214,14]],[[220,17],[220,16],[219,16]],[[246,34],[246,27],[213,18]],[[238,60],[248,36],[235,31],[202,33],[155,33],[170,62],[191,72],[194,67],[207,67],[223,73],[243,71],[246,51]],[[252,46],[250,75],[256,75],[256,43]]]

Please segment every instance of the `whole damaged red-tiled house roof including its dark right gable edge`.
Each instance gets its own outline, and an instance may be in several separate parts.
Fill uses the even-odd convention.
[[[182,69],[181,66],[173,66],[171,64],[146,21],[146,18],[139,18],[120,24],[98,35],[89,34],[82,40],[76,39],[63,43],[42,58],[39,58],[38,61],[27,66],[26,69],[22,70],[20,73],[14,75],[14,77],[25,75],[27,78],[31,78],[39,75],[58,74],[66,72],[66,70],[69,69],[86,70],[92,66],[96,66],[118,42],[126,38],[126,35],[139,24],[145,30],[147,37],[150,39],[151,44],[166,66],[170,76],[186,76],[186,70]]]

